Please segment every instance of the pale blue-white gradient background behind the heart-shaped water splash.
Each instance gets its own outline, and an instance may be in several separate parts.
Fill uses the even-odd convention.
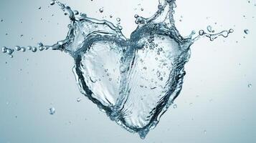
[[[90,17],[106,16],[104,19],[114,23],[120,17],[128,37],[136,29],[134,14],[151,16],[158,6],[158,0],[62,2]],[[255,3],[176,1],[176,26],[182,35],[208,25],[215,31],[232,28],[234,34],[215,41],[201,39],[191,46],[184,88],[175,101],[178,108],[171,107],[144,140],[110,121],[80,94],[72,73],[73,60],[67,54],[20,51],[13,59],[0,54],[0,142],[256,142]],[[1,0],[0,19],[4,21],[0,22],[0,46],[33,46],[39,41],[54,44],[65,39],[69,19],[57,6],[48,6],[45,0]],[[101,7],[103,14],[98,11]],[[76,102],[78,97],[81,102]],[[56,114],[49,114],[50,107]]]

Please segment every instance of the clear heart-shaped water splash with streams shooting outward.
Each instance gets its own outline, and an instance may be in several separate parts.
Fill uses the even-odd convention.
[[[13,57],[15,51],[52,49],[70,54],[80,92],[110,119],[137,132],[142,139],[179,96],[190,46],[201,37],[213,41],[233,32],[229,29],[214,33],[212,27],[207,27],[209,34],[201,30],[198,36],[194,31],[181,36],[174,24],[174,0],[160,0],[158,11],[148,19],[136,16],[138,27],[130,38],[123,36],[120,25],[79,14],[60,1],[52,1],[54,4],[70,17],[65,40],[52,46],[39,43],[14,49],[3,47],[3,53]],[[52,113],[55,110],[50,109]]]

